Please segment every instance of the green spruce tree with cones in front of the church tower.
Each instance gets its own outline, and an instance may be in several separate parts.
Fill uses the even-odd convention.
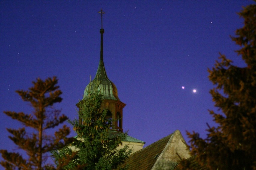
[[[88,92],[86,100],[80,102],[78,114],[82,124],[77,120],[70,121],[77,133],[75,142],[54,153],[57,165],[62,164],[59,160],[67,154],[75,155],[64,169],[111,170],[123,163],[131,153],[128,146],[117,150],[126,134],[109,135],[112,120],[107,118],[106,110],[101,110],[102,95],[97,90],[99,82],[94,86],[95,90]]]

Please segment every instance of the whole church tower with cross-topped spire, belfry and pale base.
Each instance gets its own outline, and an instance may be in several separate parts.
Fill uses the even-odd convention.
[[[94,79],[85,87],[84,89],[84,97],[80,102],[84,102],[87,98],[88,91],[92,91],[95,87],[94,84],[96,82],[99,83],[98,90],[101,91],[102,94],[102,105],[101,110],[107,110],[107,118],[112,119],[111,130],[109,130],[109,136],[118,136],[123,133],[123,108],[126,104],[124,104],[118,98],[117,88],[112,81],[108,79],[108,76],[105,71],[105,66],[103,62],[103,34],[104,29],[102,28],[102,10],[99,12],[101,14],[101,29],[99,30],[101,38],[100,38],[100,59],[99,66],[96,72]],[[79,103],[80,103],[79,102]],[[79,108],[80,104],[76,104]],[[80,109],[80,108],[79,108]],[[79,118],[79,123],[82,124],[82,119]],[[117,147],[117,149],[123,148],[125,145],[132,150],[132,153],[139,151],[144,146],[145,142],[133,138],[129,135],[126,135],[125,139],[122,141],[123,145]]]

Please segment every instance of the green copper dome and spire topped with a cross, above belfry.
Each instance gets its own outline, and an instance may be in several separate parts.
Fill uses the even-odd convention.
[[[105,67],[104,67],[104,62],[103,62],[103,34],[104,34],[104,29],[102,28],[102,14],[105,14],[105,12],[99,11],[98,13],[101,14],[101,29],[99,30],[101,36],[100,36],[100,59],[99,59],[99,66],[95,75],[95,78],[93,79],[93,81],[99,81],[99,90],[101,90],[102,93],[102,98],[103,99],[111,99],[111,100],[118,100],[120,101],[120,99],[118,98],[117,95],[117,88],[114,85],[114,83],[112,83],[109,79],[108,76],[106,74],[105,71]],[[87,91],[90,89],[92,89],[94,86],[93,81],[91,81],[85,88],[84,90],[84,99],[87,97],[88,93]]]

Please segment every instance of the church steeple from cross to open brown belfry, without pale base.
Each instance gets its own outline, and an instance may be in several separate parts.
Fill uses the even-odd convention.
[[[99,81],[99,87],[98,90],[101,91],[102,94],[102,106],[101,109],[102,110],[107,110],[107,116],[109,118],[112,118],[114,121],[112,122],[112,126],[111,128],[113,130],[119,131],[119,132],[123,132],[123,107],[125,107],[126,104],[124,104],[123,102],[120,101],[120,99],[118,98],[118,94],[117,94],[117,88],[114,85],[114,83],[112,83],[109,79],[108,76],[106,74],[105,71],[105,66],[104,66],[104,62],[103,62],[103,34],[104,34],[104,29],[102,27],[102,14],[104,14],[105,12],[103,12],[102,10],[99,11],[99,13],[101,14],[101,29],[100,29],[100,59],[99,59],[99,66],[95,75],[95,78],[93,79],[93,81],[91,81],[85,88],[84,90],[84,97],[82,99],[86,100],[87,95],[88,95],[88,91],[92,91],[94,88],[94,81]],[[78,105],[77,105],[78,106]],[[79,122],[82,123],[82,121],[80,120]]]

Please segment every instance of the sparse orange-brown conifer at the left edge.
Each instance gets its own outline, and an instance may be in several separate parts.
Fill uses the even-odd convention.
[[[17,90],[23,101],[27,101],[34,108],[32,114],[23,112],[5,111],[4,113],[12,119],[22,123],[23,128],[7,128],[11,133],[9,138],[26,152],[27,158],[16,152],[0,150],[5,161],[1,165],[5,169],[54,169],[53,165],[45,164],[47,153],[60,149],[73,141],[73,138],[66,138],[70,133],[69,127],[63,125],[54,136],[46,135],[46,130],[62,124],[68,118],[64,114],[60,116],[60,110],[53,108],[53,104],[62,101],[62,94],[57,86],[56,77],[47,78],[42,81],[40,78],[32,82],[33,87],[28,91]]]

